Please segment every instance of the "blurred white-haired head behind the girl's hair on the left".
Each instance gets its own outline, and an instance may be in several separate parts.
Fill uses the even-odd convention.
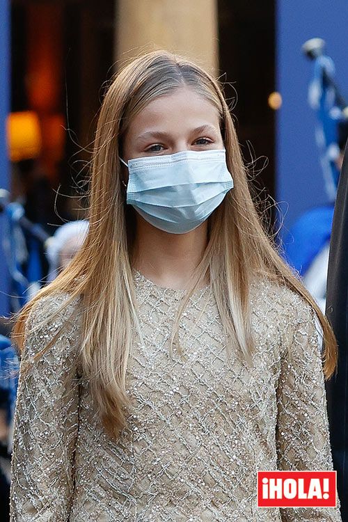
[[[49,262],[47,283],[53,281],[79,251],[88,232],[88,220],[70,221],[57,228],[47,241],[46,255]]]

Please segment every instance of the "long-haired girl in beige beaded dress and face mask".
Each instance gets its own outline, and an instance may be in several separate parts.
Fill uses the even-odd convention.
[[[341,521],[339,500],[257,505],[258,470],[332,470],[337,352],[262,230],[221,86],[186,58],[113,79],[88,235],[13,337],[12,521]]]

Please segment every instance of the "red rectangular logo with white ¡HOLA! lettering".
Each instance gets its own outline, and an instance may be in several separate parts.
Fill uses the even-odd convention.
[[[336,471],[258,471],[258,507],[336,506]]]

